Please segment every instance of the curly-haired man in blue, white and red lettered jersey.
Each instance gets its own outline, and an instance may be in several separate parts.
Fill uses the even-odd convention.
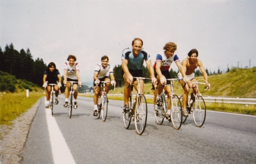
[[[167,92],[167,102],[168,99],[170,99],[170,93],[171,93],[171,86],[170,81],[166,81],[166,79],[171,79],[170,76],[170,65],[174,61],[176,65],[179,67],[180,72],[183,75],[183,80],[185,82],[188,81],[188,78],[186,77],[185,70],[182,67],[182,64],[180,63],[179,57],[177,54],[174,54],[174,52],[177,50],[177,45],[173,42],[168,42],[163,47],[163,51],[159,52],[157,54],[157,59],[155,60],[154,68],[157,72],[157,80],[159,81],[158,87],[157,87],[157,105],[159,106],[161,103],[161,94],[163,91],[164,84],[166,85],[166,92]],[[171,114],[170,109],[167,111],[168,114]],[[188,113],[183,112],[183,115],[188,115]],[[170,120],[169,120],[170,121]]]

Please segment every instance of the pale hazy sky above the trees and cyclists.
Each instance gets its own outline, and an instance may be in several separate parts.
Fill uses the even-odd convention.
[[[210,72],[254,67],[255,8],[253,0],[2,0],[0,46],[29,48],[33,59],[54,62],[61,75],[73,54],[85,83],[92,83],[102,56],[113,67],[121,65],[121,53],[135,37],[142,38],[152,64],[172,41],[180,60],[197,49]],[[171,68],[178,70],[174,63]]]

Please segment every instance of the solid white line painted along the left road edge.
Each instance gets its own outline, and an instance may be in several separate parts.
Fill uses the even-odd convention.
[[[52,117],[51,110],[45,109],[45,112],[46,112],[46,120],[47,120],[47,125],[49,130],[49,136],[50,136],[51,147],[52,147],[52,157],[54,159],[54,163],[55,164],[76,163],[74,161],[73,156],[71,155],[71,152],[67,146],[67,143],[65,142],[63,134],[61,133],[55,118]]]

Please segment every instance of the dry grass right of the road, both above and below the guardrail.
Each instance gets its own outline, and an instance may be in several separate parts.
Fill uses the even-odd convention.
[[[256,98],[256,67],[251,69],[236,69],[233,68],[230,72],[223,75],[209,76],[208,81],[211,83],[210,91],[204,91],[205,86],[199,86],[199,91],[202,96],[216,96],[216,97],[240,97],[240,98]],[[196,79],[203,79],[202,76]],[[174,92],[177,95],[183,94],[183,89],[180,83],[174,82]],[[123,88],[115,88],[109,94],[123,94]],[[153,95],[150,84],[145,84],[145,95]],[[93,97],[93,95],[87,95]],[[123,101],[123,97],[110,97],[109,99],[116,99]],[[153,103],[152,99],[147,99],[148,103]],[[256,105],[243,104],[225,104],[217,102],[207,102],[207,110],[235,112],[241,114],[256,115]]]

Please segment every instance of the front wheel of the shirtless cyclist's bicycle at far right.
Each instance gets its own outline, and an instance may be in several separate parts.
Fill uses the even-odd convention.
[[[204,98],[197,96],[193,103],[193,121],[197,127],[202,127],[206,117],[206,107]]]

